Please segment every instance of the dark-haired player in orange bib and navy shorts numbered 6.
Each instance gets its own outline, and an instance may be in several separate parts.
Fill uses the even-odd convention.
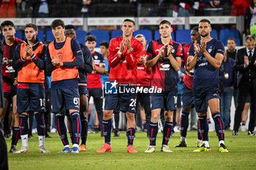
[[[46,70],[51,72],[52,77],[50,90],[52,112],[56,114],[58,133],[64,145],[61,152],[79,153],[81,123],[78,66],[84,63],[83,53],[75,39],[65,36],[62,20],[53,20],[51,28],[55,40],[48,45],[45,61]],[[67,139],[67,129],[64,123],[65,110],[69,110],[72,120],[74,134],[72,150]]]

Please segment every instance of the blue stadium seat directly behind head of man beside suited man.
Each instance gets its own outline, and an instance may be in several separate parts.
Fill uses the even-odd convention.
[[[237,46],[241,45],[240,32],[237,29],[225,28],[219,31],[219,40],[221,40],[225,46],[227,45],[227,39],[229,37],[236,39]]]

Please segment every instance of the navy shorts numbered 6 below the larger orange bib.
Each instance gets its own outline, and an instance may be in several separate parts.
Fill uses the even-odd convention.
[[[51,89],[50,101],[52,112],[61,112],[65,109],[76,109],[79,111],[80,96],[78,87]]]

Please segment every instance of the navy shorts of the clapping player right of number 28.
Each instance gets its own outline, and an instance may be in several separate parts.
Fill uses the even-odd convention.
[[[178,94],[173,91],[166,91],[162,93],[151,94],[151,110],[164,109],[176,110],[177,109]]]

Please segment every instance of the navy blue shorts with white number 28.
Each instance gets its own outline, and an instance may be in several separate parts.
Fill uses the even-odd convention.
[[[117,109],[121,112],[136,113],[136,93],[106,93],[105,110]]]

